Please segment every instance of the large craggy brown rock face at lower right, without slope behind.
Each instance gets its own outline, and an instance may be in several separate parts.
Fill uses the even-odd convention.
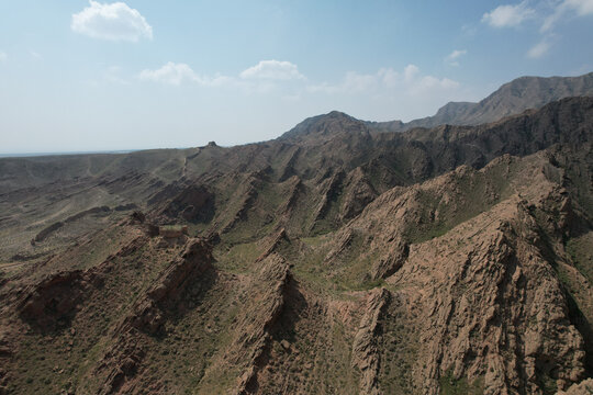
[[[485,228],[475,228],[486,219],[479,217],[412,248],[392,279],[421,281],[417,303],[427,313],[419,317],[425,353],[416,380],[426,393],[436,394],[449,370],[456,380],[481,382],[484,394],[537,393],[549,381],[562,390],[584,374],[583,340],[552,266],[529,234],[521,236],[525,213],[516,202],[495,210]]]

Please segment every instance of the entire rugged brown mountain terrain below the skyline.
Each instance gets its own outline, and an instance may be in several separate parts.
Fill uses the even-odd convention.
[[[0,394],[590,394],[591,81],[0,159]]]

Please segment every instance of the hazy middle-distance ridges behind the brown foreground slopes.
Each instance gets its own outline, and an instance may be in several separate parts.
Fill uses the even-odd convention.
[[[336,113],[305,122],[290,138],[116,155],[112,160],[118,166],[97,174],[59,182],[51,176],[36,180],[37,187],[25,177],[23,188],[0,193],[0,263],[20,270],[43,262],[71,240],[135,210],[150,212],[158,224],[188,223],[194,234],[225,234],[233,242],[261,238],[279,226],[299,236],[327,233],[395,185],[422,182],[461,165],[480,168],[503,154],[581,145],[590,138],[592,109],[591,98],[572,98],[493,124],[401,134],[372,133],[360,121]],[[149,159],[138,171],[119,166],[144,157]],[[9,171],[7,179],[14,179],[11,172],[41,171],[60,160],[0,163]]]

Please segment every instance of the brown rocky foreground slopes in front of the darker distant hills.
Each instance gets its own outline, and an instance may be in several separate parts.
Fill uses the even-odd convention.
[[[559,162],[542,151],[461,167],[384,192],[336,233],[223,235],[213,257],[205,240],[118,224],[94,264],[68,263],[93,237],[2,286],[8,388],[567,390],[590,374],[593,317],[566,249],[583,208]],[[567,272],[589,296],[573,300]]]

